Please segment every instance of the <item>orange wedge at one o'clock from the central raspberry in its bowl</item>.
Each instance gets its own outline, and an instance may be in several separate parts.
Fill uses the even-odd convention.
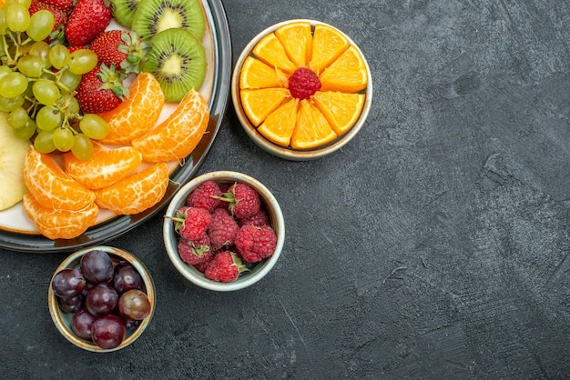
[[[316,75],[331,65],[351,45],[348,38],[329,25],[315,25],[309,68]]]

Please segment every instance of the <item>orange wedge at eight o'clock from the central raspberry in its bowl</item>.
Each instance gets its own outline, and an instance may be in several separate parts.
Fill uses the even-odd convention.
[[[262,88],[260,90],[241,90],[241,105],[251,124],[258,126],[275,111],[285,99],[290,98],[287,88]]]

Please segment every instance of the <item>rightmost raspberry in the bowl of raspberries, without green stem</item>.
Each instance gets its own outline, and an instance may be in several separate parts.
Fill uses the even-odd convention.
[[[277,235],[270,225],[243,225],[235,241],[239,255],[248,263],[257,263],[275,252]]]

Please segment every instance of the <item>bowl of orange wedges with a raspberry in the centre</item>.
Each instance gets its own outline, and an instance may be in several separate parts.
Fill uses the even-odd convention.
[[[364,125],[372,75],[361,49],[338,28],[283,21],[239,55],[231,97],[249,137],[272,155],[303,161],[330,155]]]

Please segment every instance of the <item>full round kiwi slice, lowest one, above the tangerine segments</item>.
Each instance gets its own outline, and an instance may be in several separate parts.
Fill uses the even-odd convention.
[[[206,75],[206,52],[185,29],[166,29],[149,40],[147,61],[140,70],[155,75],[167,102],[179,102],[192,88],[198,91]]]

